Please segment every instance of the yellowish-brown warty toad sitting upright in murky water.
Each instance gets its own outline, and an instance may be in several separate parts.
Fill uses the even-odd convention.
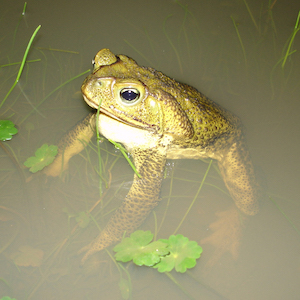
[[[97,127],[104,137],[124,145],[141,178],[134,175],[121,206],[82,249],[82,262],[143,223],[159,203],[167,159],[216,160],[236,207],[244,215],[258,212],[258,183],[238,117],[195,88],[141,67],[125,55],[102,49],[93,64],[81,91],[86,103],[100,113],[88,115],[63,138],[45,173],[57,176],[65,170]]]

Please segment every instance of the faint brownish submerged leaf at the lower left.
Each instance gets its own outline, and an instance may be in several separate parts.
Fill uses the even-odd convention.
[[[17,266],[39,267],[42,263],[43,256],[43,250],[25,245],[20,246],[18,251],[12,253],[10,259],[12,259]]]

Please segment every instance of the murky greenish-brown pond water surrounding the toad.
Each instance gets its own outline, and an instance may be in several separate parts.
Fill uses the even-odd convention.
[[[72,159],[64,181],[46,180],[39,173],[31,177],[23,168],[38,147],[57,143],[88,113],[79,93],[86,75],[63,84],[91,68],[99,49],[109,48],[195,86],[237,114],[266,191],[260,213],[244,224],[239,256],[233,259],[225,253],[211,266],[215,248],[205,244],[189,274],[172,273],[178,283],[194,299],[298,299],[300,238],[294,226],[300,227],[299,35],[291,50],[297,51],[283,69],[281,59],[300,4],[248,2],[253,18],[245,2],[237,0],[35,0],[28,1],[21,17],[24,2],[2,0],[0,65],[21,61],[31,34],[38,25],[42,28],[28,56],[40,61],[26,64],[0,109],[0,119],[12,120],[19,129],[4,143],[7,152],[0,150],[0,297],[122,299],[120,278],[128,279],[124,270],[119,272],[103,253],[87,274],[76,254],[98,232],[93,222],[79,229],[75,221],[100,197],[95,140]],[[0,68],[0,101],[17,72],[18,65]],[[133,176],[113,146],[104,141],[101,148],[109,188],[104,186],[103,201],[93,211],[100,226],[126,195]],[[179,161],[168,168],[163,201],[155,210],[159,238],[174,232],[206,168],[200,161]],[[206,183],[179,230],[197,242],[211,234],[215,213],[232,206],[215,169]],[[151,215],[142,228],[154,231],[154,224]],[[20,256],[16,266],[12,255],[22,251],[28,255]],[[124,267],[133,299],[187,298],[165,274],[130,264]]]

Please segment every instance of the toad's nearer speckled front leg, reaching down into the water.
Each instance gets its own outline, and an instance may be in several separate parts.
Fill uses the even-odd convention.
[[[158,149],[135,150],[132,155],[141,178],[134,175],[133,184],[121,206],[98,237],[79,251],[86,252],[82,263],[90,255],[121,240],[124,233],[135,231],[159,203],[166,155]]]

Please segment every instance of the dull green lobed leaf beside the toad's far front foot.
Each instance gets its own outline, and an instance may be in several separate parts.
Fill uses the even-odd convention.
[[[55,145],[48,146],[47,144],[44,144],[36,150],[35,156],[29,157],[24,162],[24,165],[30,168],[30,172],[36,173],[53,162],[57,154],[57,149],[58,147]]]

